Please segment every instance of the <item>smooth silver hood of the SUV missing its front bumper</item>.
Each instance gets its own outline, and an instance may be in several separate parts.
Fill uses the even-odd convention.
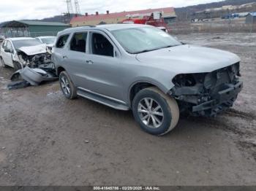
[[[211,72],[240,61],[231,52],[188,44],[140,53],[136,58],[141,63],[176,74]]]

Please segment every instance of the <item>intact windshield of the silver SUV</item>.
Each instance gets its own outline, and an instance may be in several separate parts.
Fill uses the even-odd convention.
[[[181,42],[159,28],[126,28],[111,33],[121,46],[132,54],[181,45]]]

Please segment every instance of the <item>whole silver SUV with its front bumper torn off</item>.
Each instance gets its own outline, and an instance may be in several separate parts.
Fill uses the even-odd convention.
[[[183,44],[152,26],[66,29],[52,60],[67,98],[132,109],[140,127],[158,136],[175,128],[180,112],[215,116],[233,106],[243,85],[237,55]]]

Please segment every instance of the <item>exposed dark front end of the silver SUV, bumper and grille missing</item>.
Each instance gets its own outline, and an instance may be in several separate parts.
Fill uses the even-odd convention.
[[[170,90],[181,112],[194,116],[214,117],[233,106],[243,88],[239,80],[240,64],[235,63],[217,71],[198,74],[178,74]]]

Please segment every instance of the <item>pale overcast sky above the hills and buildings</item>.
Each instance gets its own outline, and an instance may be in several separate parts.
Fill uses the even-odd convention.
[[[72,0],[74,2],[74,0]],[[78,0],[84,14],[105,13],[160,7],[186,7],[220,0]],[[75,5],[73,5],[75,8]],[[42,19],[67,12],[64,0],[0,0],[0,22],[7,20]]]

